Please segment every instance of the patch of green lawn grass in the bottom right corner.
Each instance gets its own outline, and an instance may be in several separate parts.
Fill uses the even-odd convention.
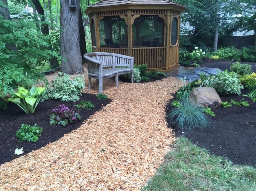
[[[166,161],[148,181],[143,191],[253,191],[256,169],[232,165],[209,154],[184,137],[178,138]]]

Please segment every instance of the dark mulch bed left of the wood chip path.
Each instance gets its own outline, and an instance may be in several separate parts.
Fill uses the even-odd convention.
[[[60,104],[65,104],[67,107],[73,108],[73,106],[79,104],[81,100],[89,100],[95,105],[93,110],[79,110],[79,114],[82,117],[81,121],[73,122],[66,127],[58,124],[49,124],[48,117],[53,108],[57,108]],[[60,102],[59,100],[40,102],[35,109],[34,114],[28,115],[17,105],[9,102],[7,109],[0,109],[0,164],[28,154],[32,150],[40,149],[46,144],[58,140],[63,137],[64,134],[68,134],[81,126],[83,121],[111,101],[112,100],[110,99],[99,100],[95,94],[83,93],[82,97],[80,97],[80,100],[77,102]],[[31,126],[37,123],[37,126],[43,127],[43,133],[36,143],[25,141],[18,142],[15,134],[23,123]],[[21,147],[23,147],[24,153],[21,155],[14,155],[15,149],[20,149]]]

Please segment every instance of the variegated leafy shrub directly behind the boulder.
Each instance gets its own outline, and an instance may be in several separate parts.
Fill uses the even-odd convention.
[[[240,84],[239,77],[235,72],[228,70],[220,71],[216,75],[210,75],[202,81],[201,86],[212,87],[219,94],[241,94],[243,86]]]

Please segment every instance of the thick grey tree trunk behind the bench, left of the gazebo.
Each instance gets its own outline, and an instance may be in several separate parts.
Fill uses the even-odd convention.
[[[60,0],[61,71],[67,74],[83,73],[79,34],[80,2],[70,10],[68,0]]]

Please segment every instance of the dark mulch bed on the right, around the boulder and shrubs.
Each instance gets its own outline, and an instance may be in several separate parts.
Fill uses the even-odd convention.
[[[204,61],[200,66],[229,70],[230,63],[234,62],[210,60]],[[251,64],[252,71],[256,72],[256,63],[248,64]],[[242,96],[248,90],[243,89],[241,92],[241,96],[220,95],[220,98],[222,101],[229,102],[232,99],[236,101],[244,99],[244,101],[249,102],[249,107],[233,105],[230,108],[212,108],[216,116],[210,117],[211,125],[205,129],[182,133],[176,129],[174,124],[170,123],[169,126],[174,128],[175,136],[185,136],[196,145],[208,149],[210,153],[231,160],[233,164],[246,164],[256,167],[256,102]],[[172,109],[170,104],[171,101],[167,106],[167,112]]]

